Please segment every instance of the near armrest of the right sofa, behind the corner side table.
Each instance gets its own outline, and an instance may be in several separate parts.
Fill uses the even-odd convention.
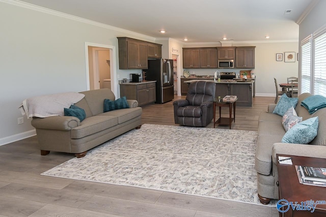
[[[274,143],[272,150],[272,160],[274,164],[277,164],[276,154],[326,158],[325,153],[326,146],[323,145]]]

